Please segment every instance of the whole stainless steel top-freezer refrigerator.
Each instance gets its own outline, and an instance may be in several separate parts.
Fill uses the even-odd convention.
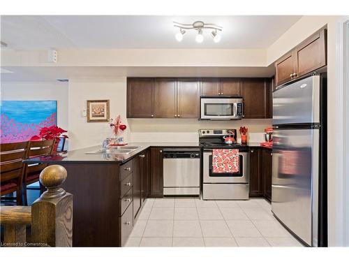
[[[273,92],[272,212],[305,245],[327,246],[327,79]]]

